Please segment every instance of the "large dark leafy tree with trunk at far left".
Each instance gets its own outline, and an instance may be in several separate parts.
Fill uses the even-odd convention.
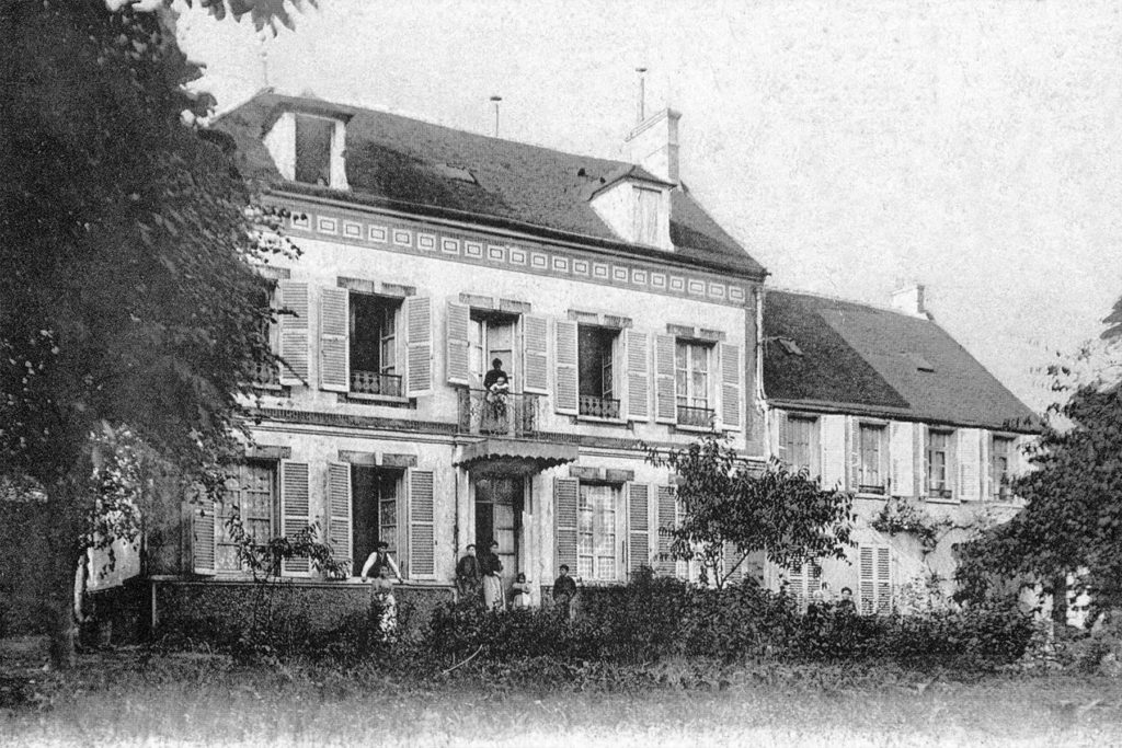
[[[227,1],[259,26],[283,9]],[[248,384],[277,363],[251,266],[274,219],[190,124],[212,100],[184,89],[199,70],[166,10],[2,2],[0,477],[46,496],[42,582],[65,665],[98,495],[91,436],[128,427],[184,482],[220,490]]]

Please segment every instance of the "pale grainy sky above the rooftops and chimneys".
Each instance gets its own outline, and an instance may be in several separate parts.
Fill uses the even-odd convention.
[[[771,286],[921,283],[1036,408],[1122,296],[1120,2],[319,0],[275,37],[183,10],[219,111],[269,85],[490,133],[498,94],[502,137],[619,158],[646,67]]]

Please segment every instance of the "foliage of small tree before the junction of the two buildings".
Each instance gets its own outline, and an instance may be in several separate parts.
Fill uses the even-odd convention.
[[[647,460],[678,475],[682,518],[670,530],[672,555],[700,561],[717,587],[758,552],[782,567],[845,556],[853,497],[821,489],[804,470],[778,460],[753,469],[716,436],[669,453],[649,450]]]

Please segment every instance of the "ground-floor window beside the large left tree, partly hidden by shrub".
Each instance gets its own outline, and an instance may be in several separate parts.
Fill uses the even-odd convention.
[[[248,571],[238,557],[238,545],[230,537],[228,521],[231,517],[241,518],[242,528],[257,547],[265,546],[275,536],[276,486],[276,463],[256,460],[239,464],[227,481],[222,500],[214,505],[215,572]]]

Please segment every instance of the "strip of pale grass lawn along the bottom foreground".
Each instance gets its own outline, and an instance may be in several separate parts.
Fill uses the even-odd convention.
[[[1122,745],[1122,682],[671,662],[544,683],[475,664],[246,667],[125,650],[57,676],[0,650],[6,745]]]

